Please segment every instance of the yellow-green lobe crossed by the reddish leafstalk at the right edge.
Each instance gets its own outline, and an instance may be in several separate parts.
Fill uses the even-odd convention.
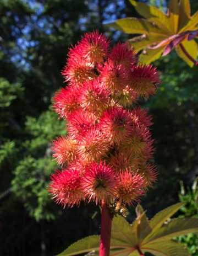
[[[184,47],[185,51],[193,58],[193,60],[196,60],[197,58],[197,52],[198,52],[198,45],[195,40],[191,41],[183,41],[182,46]],[[182,50],[182,47],[178,45],[175,48],[175,51],[179,55],[180,58],[182,58],[190,67],[194,66],[194,62],[190,60],[189,57],[184,54],[184,51]]]

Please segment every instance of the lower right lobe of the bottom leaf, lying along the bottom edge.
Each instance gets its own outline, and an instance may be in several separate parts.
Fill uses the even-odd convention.
[[[156,256],[188,256],[188,249],[175,241],[151,243],[142,247],[142,252],[149,252]]]

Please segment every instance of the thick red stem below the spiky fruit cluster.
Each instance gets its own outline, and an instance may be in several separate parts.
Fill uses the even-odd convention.
[[[109,256],[112,218],[105,201],[102,200],[101,238],[99,256]]]

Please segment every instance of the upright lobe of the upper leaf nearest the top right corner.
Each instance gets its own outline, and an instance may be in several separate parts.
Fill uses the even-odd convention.
[[[190,20],[190,2],[189,0],[180,0],[179,2],[179,26],[182,29]]]

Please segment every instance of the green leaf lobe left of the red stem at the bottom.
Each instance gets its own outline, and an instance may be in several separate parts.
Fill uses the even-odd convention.
[[[99,250],[100,236],[90,236],[73,243],[57,256],[73,256],[81,253],[95,252]]]

